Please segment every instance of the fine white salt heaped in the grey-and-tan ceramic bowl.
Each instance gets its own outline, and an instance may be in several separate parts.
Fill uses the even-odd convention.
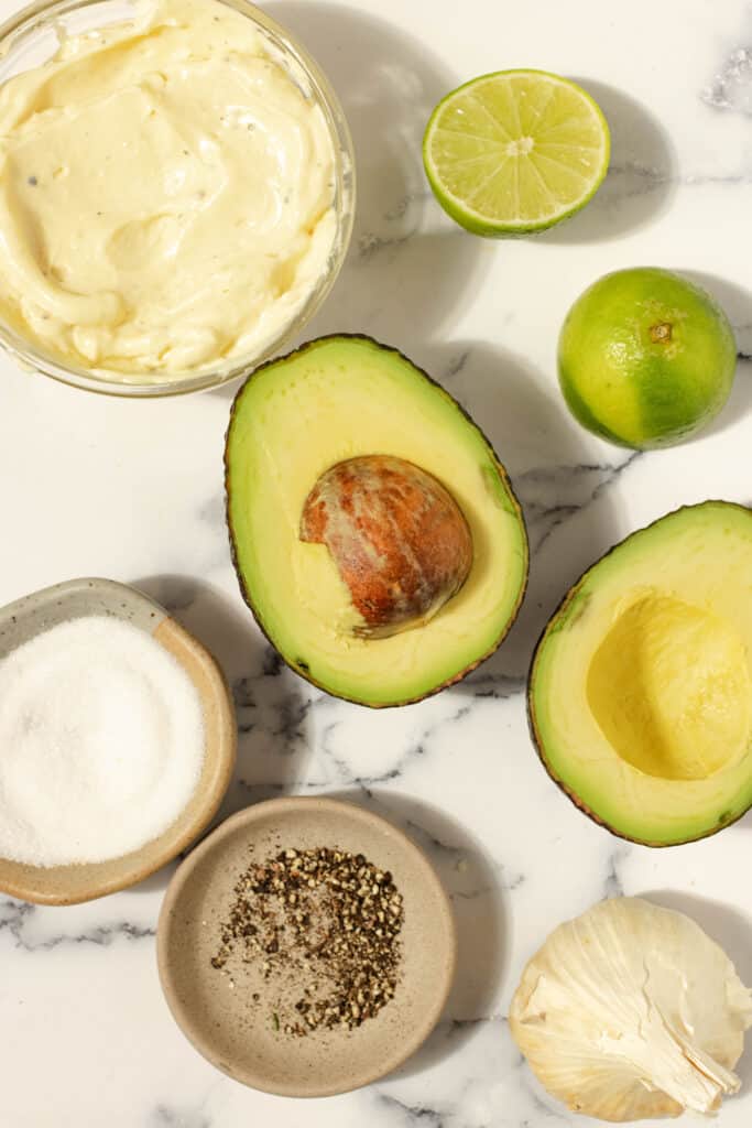
[[[104,862],[158,838],[204,758],[201,698],[151,635],[87,616],[0,661],[0,856]]]

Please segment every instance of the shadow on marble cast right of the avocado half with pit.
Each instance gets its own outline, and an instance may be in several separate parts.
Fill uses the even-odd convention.
[[[453,690],[505,696],[521,688],[536,642],[570,584],[623,536],[609,487],[635,453],[591,439],[558,387],[508,350],[466,341],[428,345],[417,359],[478,421],[524,513],[530,580],[517,620],[496,654]],[[599,449],[608,461],[594,457]]]

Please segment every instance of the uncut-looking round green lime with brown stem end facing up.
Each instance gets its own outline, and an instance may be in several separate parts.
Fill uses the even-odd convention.
[[[577,298],[558,367],[564,398],[589,431],[638,450],[671,447],[726,403],[736,344],[709,293],[643,266],[605,274]]]

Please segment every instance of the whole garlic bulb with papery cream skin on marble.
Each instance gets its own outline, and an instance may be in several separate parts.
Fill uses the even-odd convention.
[[[528,963],[510,1028],[548,1092],[601,1120],[711,1114],[752,1025],[752,992],[682,913],[637,897],[560,925]]]

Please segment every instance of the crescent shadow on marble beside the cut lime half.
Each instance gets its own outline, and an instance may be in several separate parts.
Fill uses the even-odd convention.
[[[601,243],[630,235],[666,210],[676,187],[675,153],[653,114],[604,82],[577,77],[574,81],[595,98],[605,114],[611,130],[611,162],[605,180],[587,206],[539,236],[545,243]]]

